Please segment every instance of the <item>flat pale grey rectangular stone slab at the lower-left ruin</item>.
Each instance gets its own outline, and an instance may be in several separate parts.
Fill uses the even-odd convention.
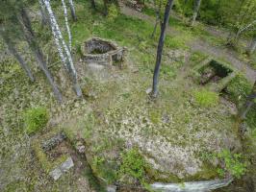
[[[73,166],[73,159],[71,158],[71,156],[69,156],[59,167],[51,171],[49,175],[53,178],[53,180],[58,180],[59,178],[61,178],[64,172],[67,172]]]

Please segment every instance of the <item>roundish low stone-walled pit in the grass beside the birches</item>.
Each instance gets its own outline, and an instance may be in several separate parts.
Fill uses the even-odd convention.
[[[82,44],[81,51],[82,60],[86,62],[112,65],[114,62],[122,60],[124,49],[117,46],[113,41],[91,37]]]

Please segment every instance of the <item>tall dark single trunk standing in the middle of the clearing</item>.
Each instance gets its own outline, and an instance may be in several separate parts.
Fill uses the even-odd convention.
[[[163,47],[164,47],[164,42],[165,42],[165,37],[166,37],[166,27],[168,25],[169,13],[173,6],[173,2],[174,2],[174,0],[168,0],[168,2],[166,4],[164,22],[161,26],[161,35],[159,37],[159,42],[158,42],[157,60],[156,60],[156,65],[155,65],[155,70],[154,70],[153,87],[152,87],[152,93],[151,93],[153,97],[156,97],[157,93],[158,93],[157,86],[158,86],[160,65],[161,65],[161,60],[162,60],[162,52],[163,52]]]

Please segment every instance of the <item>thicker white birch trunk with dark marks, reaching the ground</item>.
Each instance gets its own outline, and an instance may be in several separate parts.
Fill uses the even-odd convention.
[[[64,37],[62,35],[62,32],[60,30],[60,27],[57,23],[57,20],[54,16],[54,12],[52,11],[51,5],[49,0],[43,0],[44,5],[46,7],[47,12],[49,13],[50,17],[50,22],[51,22],[51,28],[52,28],[52,33],[55,39],[55,43],[57,46],[57,49],[59,51],[59,55],[61,60],[64,63],[65,68],[68,71],[68,74],[71,77],[71,80],[74,84],[74,89],[76,91],[76,94],[78,97],[82,96],[82,90],[80,88],[80,85],[78,84],[77,81],[77,73],[73,64],[73,60],[71,57],[71,54],[69,52],[69,49],[67,48],[65,42],[64,42]]]

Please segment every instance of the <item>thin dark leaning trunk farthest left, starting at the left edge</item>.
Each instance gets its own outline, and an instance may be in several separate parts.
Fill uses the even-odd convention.
[[[5,41],[8,50],[10,51],[10,53],[13,55],[13,57],[18,60],[21,68],[25,71],[25,73],[27,74],[27,76],[29,77],[31,82],[35,82],[34,76],[32,75],[32,72],[30,70],[30,67],[28,66],[28,64],[25,62],[25,60],[23,60],[23,58],[18,54],[17,50],[15,49],[15,46],[13,44],[13,42],[11,41],[11,39],[6,36],[4,34],[4,32],[2,32],[2,37],[3,40]]]

